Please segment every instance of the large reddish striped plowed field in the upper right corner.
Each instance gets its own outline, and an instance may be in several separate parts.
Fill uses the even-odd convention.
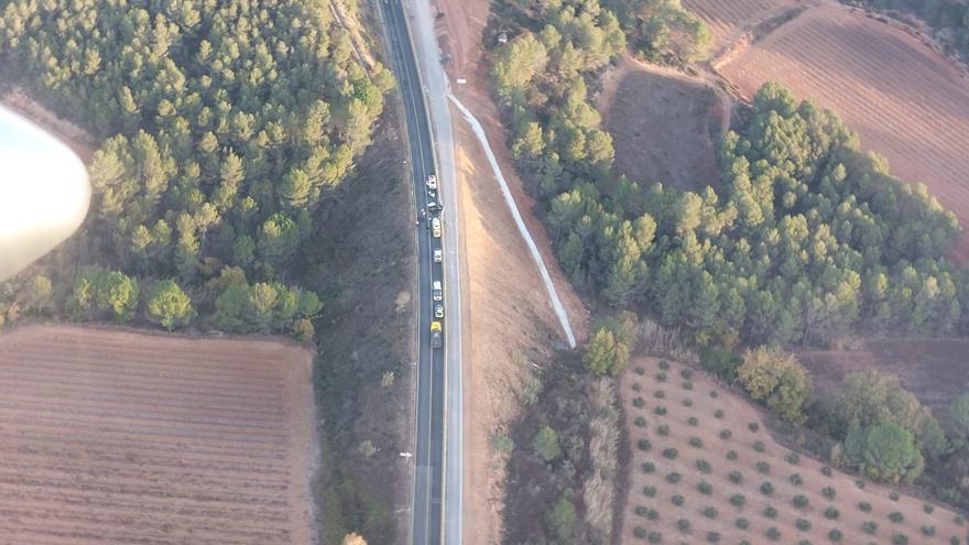
[[[904,32],[835,7],[812,8],[721,66],[750,97],[764,81],[830,108],[969,225],[969,80]],[[965,237],[963,237],[965,239]],[[969,248],[966,240],[965,249]]]

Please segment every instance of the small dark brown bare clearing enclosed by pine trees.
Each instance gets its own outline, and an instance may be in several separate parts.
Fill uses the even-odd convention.
[[[606,75],[598,102],[620,173],[681,189],[716,185],[714,138],[726,113],[714,87],[625,56]]]

